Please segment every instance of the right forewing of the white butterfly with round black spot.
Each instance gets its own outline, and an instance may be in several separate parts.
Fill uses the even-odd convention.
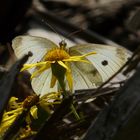
[[[87,56],[86,59],[93,64],[94,73],[97,71],[96,73],[101,75],[102,82],[106,81],[114,73],[116,73],[129,57],[126,49],[108,45],[85,44],[76,45],[69,49],[70,55],[83,55],[93,51],[96,52],[96,54]],[[94,73],[92,76],[96,79],[97,76]],[[95,82],[95,80],[93,80],[93,82]],[[98,83],[100,83],[100,81]]]

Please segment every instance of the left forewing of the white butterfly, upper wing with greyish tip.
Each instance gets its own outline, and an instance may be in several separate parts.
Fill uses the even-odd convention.
[[[56,48],[57,45],[43,37],[25,35],[17,36],[12,41],[12,47],[18,58],[23,57],[28,52],[32,52],[33,55],[26,62],[30,64],[40,61],[48,50]]]

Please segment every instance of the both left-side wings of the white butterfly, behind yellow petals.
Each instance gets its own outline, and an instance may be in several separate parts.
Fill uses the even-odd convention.
[[[32,52],[33,55],[28,59],[26,63],[37,63],[41,61],[48,50],[56,48],[57,45],[50,40],[42,37],[34,36],[18,36],[12,41],[12,47],[18,58],[21,58],[28,52]],[[31,74],[35,68],[28,70]],[[46,70],[40,75],[32,79],[33,90],[41,96],[45,93],[55,91],[56,87],[50,89],[51,70]]]

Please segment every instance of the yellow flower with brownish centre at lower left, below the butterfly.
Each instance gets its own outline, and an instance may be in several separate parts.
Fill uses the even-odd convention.
[[[31,117],[38,119],[37,111],[38,108],[36,104],[39,104],[44,108],[48,113],[52,113],[53,110],[49,106],[61,103],[61,93],[53,92],[48,93],[45,96],[42,96],[40,99],[37,95],[28,96],[23,102],[18,102],[18,98],[11,97],[8,102],[8,111],[5,110],[2,121],[0,124],[0,135],[2,136],[6,130],[14,123],[15,119],[23,112],[24,109],[30,108],[29,113],[26,116],[26,123],[31,123]]]

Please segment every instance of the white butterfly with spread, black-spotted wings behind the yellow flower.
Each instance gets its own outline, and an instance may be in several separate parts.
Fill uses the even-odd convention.
[[[43,60],[46,53],[52,48],[58,48],[55,43],[47,38],[35,36],[18,36],[12,41],[15,55],[21,58],[29,51],[33,56],[27,61],[28,64],[37,63]],[[121,47],[112,47],[100,44],[78,44],[69,48],[69,55],[84,55],[89,52],[96,52],[94,55],[86,56],[91,62],[72,62],[73,87],[77,89],[95,88],[105,82],[127,61],[130,53]],[[32,74],[34,68],[29,70]],[[33,90],[37,94],[44,95],[48,92],[57,91],[57,84],[50,88],[52,72],[48,69],[32,79]]]

